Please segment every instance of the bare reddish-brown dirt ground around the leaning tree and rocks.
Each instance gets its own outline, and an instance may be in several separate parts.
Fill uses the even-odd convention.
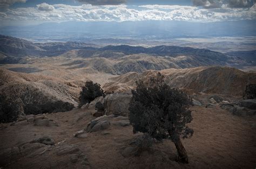
[[[87,123],[95,118],[91,116],[90,110],[85,109],[46,115],[59,126],[2,124],[0,151],[42,136],[49,136],[55,143],[61,141],[60,143],[77,145],[86,155],[91,168],[256,167],[255,116],[233,116],[219,107],[193,106],[191,110],[193,121],[190,127],[194,134],[192,138],[182,140],[189,156],[189,164],[175,161],[176,148],[170,140],[154,144],[149,151],[144,151],[138,156],[123,157],[123,148],[129,146],[131,139],[135,137],[131,125],[111,125],[109,129],[87,133],[85,138],[74,137],[73,134],[86,129]],[[78,164],[69,164],[66,160],[66,157],[61,159],[48,151],[33,158],[22,157],[2,168],[80,168]]]

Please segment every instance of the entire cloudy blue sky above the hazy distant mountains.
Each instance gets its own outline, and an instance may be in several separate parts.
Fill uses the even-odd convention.
[[[66,21],[223,22],[256,19],[256,0],[0,0],[2,26]]]

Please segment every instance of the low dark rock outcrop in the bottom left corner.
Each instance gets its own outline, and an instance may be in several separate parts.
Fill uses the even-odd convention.
[[[53,168],[62,168],[61,166],[68,166],[76,164],[74,168],[90,168],[89,161],[85,154],[79,149],[77,145],[66,144],[66,143],[55,143],[51,137],[42,137],[30,141],[30,143],[24,143],[15,147],[6,148],[0,152],[0,166],[12,166],[16,167],[15,162],[22,158],[30,158],[30,167],[38,167],[38,162],[33,164],[35,158],[40,158],[42,165],[46,165],[48,162],[52,163],[49,159],[49,154],[55,154],[56,159],[54,164],[51,164]],[[45,160],[45,161],[44,161]],[[50,161],[49,161],[50,160]]]

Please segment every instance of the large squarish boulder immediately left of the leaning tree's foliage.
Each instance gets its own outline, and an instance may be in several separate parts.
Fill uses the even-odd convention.
[[[105,114],[116,114],[121,116],[129,115],[129,104],[132,95],[126,93],[113,93],[105,97],[104,111]]]

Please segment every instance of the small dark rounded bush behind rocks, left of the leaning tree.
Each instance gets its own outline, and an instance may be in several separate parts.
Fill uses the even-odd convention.
[[[100,88],[100,84],[87,81],[80,92],[79,106],[90,103],[99,96],[105,96],[104,91]]]

